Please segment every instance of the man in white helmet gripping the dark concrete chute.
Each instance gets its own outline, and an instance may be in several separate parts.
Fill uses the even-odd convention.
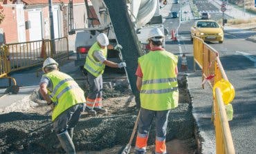
[[[109,45],[107,35],[100,33],[96,39],[97,41],[91,46],[84,64],[89,83],[85,110],[91,115],[107,113],[107,109],[102,108],[102,74],[105,66],[111,68],[123,68],[126,66],[125,62],[117,64],[107,60],[107,46]]]

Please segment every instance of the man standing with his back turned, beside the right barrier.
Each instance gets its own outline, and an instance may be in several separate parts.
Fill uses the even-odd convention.
[[[155,153],[166,153],[167,119],[170,109],[178,106],[176,79],[178,57],[162,48],[163,32],[149,31],[150,51],[138,58],[136,86],[140,90],[140,117],[136,137],[136,153],[146,153],[149,129],[156,118]]]

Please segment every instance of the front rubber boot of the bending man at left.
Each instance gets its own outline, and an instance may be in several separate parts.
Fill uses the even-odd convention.
[[[64,148],[64,151],[66,151],[66,153],[75,154],[75,146],[71,137],[68,134],[68,131],[57,134],[57,137],[60,140],[60,144],[62,144],[62,148]]]

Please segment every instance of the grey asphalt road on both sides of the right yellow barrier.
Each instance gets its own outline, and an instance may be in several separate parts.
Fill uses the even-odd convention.
[[[197,1],[196,3],[202,12],[218,10],[209,1]],[[218,20],[221,19],[222,14],[212,13],[212,17]],[[185,53],[188,59],[188,81],[190,94],[193,97],[194,116],[197,118],[196,122],[200,123],[201,135],[205,138],[202,153],[215,153],[215,147],[210,146],[214,144],[214,127],[210,122],[212,92],[209,87],[201,89],[199,68],[196,72],[193,71],[192,41],[190,41],[192,23],[194,23],[193,20],[179,23],[179,19],[167,19],[166,26],[179,31],[179,35],[178,41],[172,41],[170,37],[167,39],[166,49],[179,57]],[[253,41],[246,40],[252,35],[256,35],[256,32],[225,27],[223,44],[208,42],[219,52],[228,79],[235,87],[236,95],[232,101],[234,116],[229,123],[236,153],[255,153],[256,151],[256,49]]]

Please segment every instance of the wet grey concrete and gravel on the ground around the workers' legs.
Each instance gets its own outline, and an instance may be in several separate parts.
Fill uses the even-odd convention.
[[[116,81],[116,79],[115,79]],[[83,113],[75,127],[73,142],[80,153],[101,151],[118,153],[129,141],[134,128],[138,108],[134,96],[127,89],[125,81],[111,83],[104,89],[103,104],[107,114],[89,116]],[[179,76],[180,104],[170,113],[167,130],[167,145],[178,151],[188,148],[184,153],[193,153],[194,121],[192,119],[190,97],[184,75]],[[119,95],[119,96],[118,96]],[[120,97],[121,95],[121,97]],[[113,97],[114,96],[114,97]],[[63,153],[52,146],[57,144],[53,132],[51,112],[45,102],[39,99],[37,90],[29,98],[15,105],[15,110],[6,110],[0,115],[0,153]],[[154,150],[154,126],[149,136],[149,149]],[[176,140],[172,140],[176,139]],[[183,146],[183,145],[186,146]],[[176,145],[176,146],[175,146]],[[175,147],[174,147],[175,146]],[[185,148],[184,148],[185,147]],[[170,147],[168,146],[167,149]],[[86,152],[85,152],[86,151]]]

